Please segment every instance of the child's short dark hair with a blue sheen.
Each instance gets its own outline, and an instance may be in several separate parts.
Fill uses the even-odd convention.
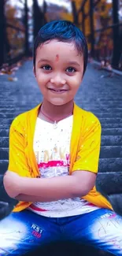
[[[83,54],[83,74],[87,68],[87,42],[83,32],[68,20],[53,20],[40,28],[35,38],[33,64],[35,67],[36,50],[48,40],[57,39],[61,42],[72,42],[78,53]]]

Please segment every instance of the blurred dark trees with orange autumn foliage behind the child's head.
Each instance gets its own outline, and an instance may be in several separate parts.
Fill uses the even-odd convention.
[[[122,0],[1,0],[0,65],[31,56],[39,28],[55,19],[83,31],[90,58],[122,69]]]

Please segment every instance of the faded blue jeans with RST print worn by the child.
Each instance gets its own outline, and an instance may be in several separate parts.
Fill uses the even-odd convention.
[[[122,255],[122,217],[99,209],[73,217],[42,217],[29,210],[0,221],[0,255],[23,255],[57,241],[84,243]]]

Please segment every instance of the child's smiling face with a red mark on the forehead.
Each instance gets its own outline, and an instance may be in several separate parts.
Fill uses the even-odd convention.
[[[83,55],[73,43],[51,40],[36,50],[35,77],[43,98],[55,106],[71,102],[83,78]]]

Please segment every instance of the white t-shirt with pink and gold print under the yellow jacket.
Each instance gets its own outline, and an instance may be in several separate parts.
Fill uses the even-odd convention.
[[[73,116],[70,116],[59,121],[57,128],[55,128],[54,124],[37,118],[33,147],[41,179],[68,176],[72,119]],[[28,207],[28,210],[45,217],[75,216],[98,209],[97,206],[83,198],[68,198],[54,202],[34,202]]]

